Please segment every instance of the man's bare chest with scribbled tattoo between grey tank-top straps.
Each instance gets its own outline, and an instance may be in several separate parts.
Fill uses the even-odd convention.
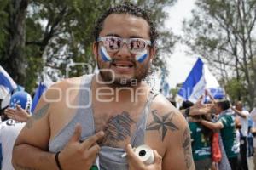
[[[102,130],[105,133],[102,144],[114,147],[124,147],[126,144],[130,144],[142,115],[138,108],[137,110],[131,111],[125,108],[95,109],[96,132]]]

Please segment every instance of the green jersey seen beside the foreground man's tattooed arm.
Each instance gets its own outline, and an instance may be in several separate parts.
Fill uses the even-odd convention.
[[[211,143],[202,133],[201,125],[197,122],[189,122],[192,139],[192,153],[195,161],[211,157]]]

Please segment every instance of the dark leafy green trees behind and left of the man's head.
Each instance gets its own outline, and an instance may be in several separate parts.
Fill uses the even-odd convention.
[[[23,38],[19,39],[20,50],[9,49],[7,46],[1,48],[1,44],[4,44],[13,36],[9,28],[18,28],[18,26],[13,28],[15,25],[12,25],[10,20],[4,20],[4,25],[0,24],[0,28],[3,28],[3,32],[5,32],[4,34],[0,33],[0,53],[5,55],[0,57],[0,64],[10,72],[11,77],[16,82],[24,85],[31,92],[35,88],[36,82],[44,79],[43,73],[56,80],[65,77],[67,67],[73,63],[95,65],[91,51],[93,42],[91,31],[95,21],[106,8],[124,1],[3,0],[5,8],[1,10],[0,7],[0,15],[18,17],[15,14],[12,15],[11,10],[7,10],[15,8],[17,2],[26,4],[23,8],[16,8],[17,12],[15,13],[23,14],[19,20],[22,24],[19,28],[22,28],[22,31],[17,34]],[[162,28],[166,18],[166,13],[162,9],[166,5],[172,5],[175,0],[137,0],[132,2],[153,9],[152,17],[160,26],[158,28],[160,30],[160,49],[172,52],[176,40],[172,33]],[[19,9],[22,9],[22,11],[19,11]],[[3,40],[4,43],[2,43]],[[7,53],[14,51],[20,57]],[[159,57],[155,61],[154,65],[165,66],[165,62]],[[69,77],[78,76],[87,71],[88,69],[80,65],[74,65],[69,71]]]

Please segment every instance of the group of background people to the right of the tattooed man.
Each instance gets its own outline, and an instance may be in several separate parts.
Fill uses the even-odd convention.
[[[191,105],[185,101],[182,109]],[[187,120],[195,169],[248,169],[247,157],[254,155],[256,122],[241,101],[232,106],[227,99],[212,99],[212,112],[188,116]]]

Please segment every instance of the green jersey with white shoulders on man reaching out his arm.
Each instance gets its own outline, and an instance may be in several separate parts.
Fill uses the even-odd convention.
[[[230,113],[222,114],[219,117],[218,122],[222,122],[224,125],[220,130],[220,133],[226,155],[228,158],[236,157],[239,150],[236,144],[235,117]]]

